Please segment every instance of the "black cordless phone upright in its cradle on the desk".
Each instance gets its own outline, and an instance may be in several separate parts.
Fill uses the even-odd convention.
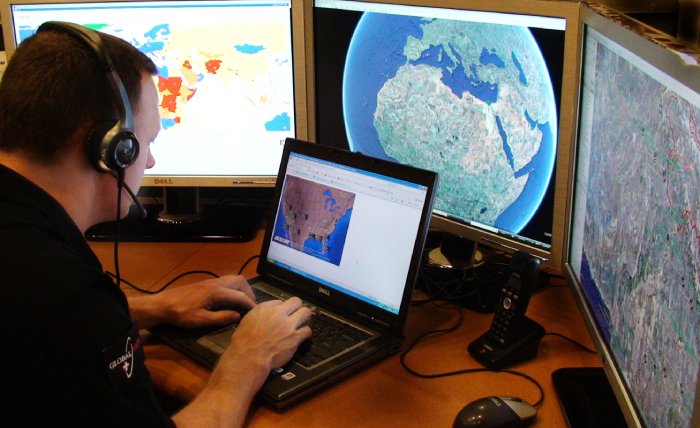
[[[486,367],[498,369],[537,355],[544,328],[525,313],[539,265],[539,259],[525,251],[513,253],[491,327],[468,346]]]

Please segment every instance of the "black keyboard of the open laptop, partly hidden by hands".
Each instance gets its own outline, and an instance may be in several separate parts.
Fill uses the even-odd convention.
[[[275,300],[275,297],[259,288],[254,288],[258,303]],[[372,334],[351,324],[327,315],[324,312],[313,312],[309,325],[313,335],[299,345],[292,361],[310,368],[338,354],[362,344],[372,337]],[[209,336],[200,338],[198,342],[216,353],[222,353],[231,341],[231,328],[227,327]]]

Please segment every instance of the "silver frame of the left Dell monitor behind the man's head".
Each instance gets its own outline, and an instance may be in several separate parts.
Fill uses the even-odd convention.
[[[17,41],[13,31],[12,5],[32,4],[61,4],[61,3],[137,3],[144,0],[8,0],[2,2],[0,19],[5,40],[7,59],[10,60],[14,53]],[[163,0],[148,0],[163,1]],[[232,0],[235,1],[235,0]],[[294,79],[294,108],[295,108],[295,136],[305,139],[308,137],[308,120],[306,109],[307,72],[304,43],[304,6],[303,0],[290,0],[291,2],[291,30],[292,30],[292,57]],[[269,188],[275,185],[276,171],[266,175],[150,175],[148,171],[143,177],[142,186],[145,187],[261,187]]]

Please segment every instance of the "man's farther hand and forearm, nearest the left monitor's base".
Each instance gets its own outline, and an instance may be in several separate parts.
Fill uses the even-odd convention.
[[[167,323],[180,327],[225,325],[240,321],[255,306],[255,295],[240,275],[175,286],[155,295],[129,298],[140,328]]]

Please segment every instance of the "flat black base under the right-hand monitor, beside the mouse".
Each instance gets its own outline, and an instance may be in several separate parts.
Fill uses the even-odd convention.
[[[569,428],[627,427],[602,367],[557,369],[552,382]]]

